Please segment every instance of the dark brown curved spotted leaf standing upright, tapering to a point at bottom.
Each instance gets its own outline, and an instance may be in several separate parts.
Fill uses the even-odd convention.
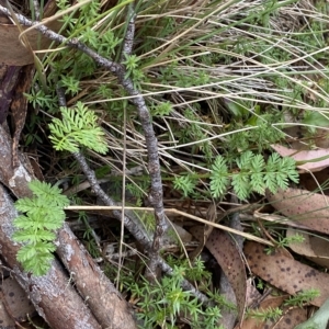
[[[192,235],[203,241],[203,229],[200,226],[191,228]],[[223,230],[214,229],[205,246],[212,252],[223,272],[226,274],[236,294],[238,319],[242,321],[246,308],[247,275],[240,251],[231,237]]]

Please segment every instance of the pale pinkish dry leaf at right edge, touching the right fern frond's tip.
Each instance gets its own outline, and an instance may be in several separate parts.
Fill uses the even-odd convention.
[[[297,150],[277,144],[271,146],[282,157],[292,157],[296,161],[306,161],[306,163],[297,166],[299,173],[320,171],[329,166],[329,149]],[[328,158],[316,161],[316,159],[322,157]]]

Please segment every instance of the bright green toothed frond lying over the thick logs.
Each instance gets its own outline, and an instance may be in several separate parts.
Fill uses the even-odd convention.
[[[45,182],[32,181],[29,188],[33,196],[15,202],[15,208],[24,214],[14,219],[18,230],[13,239],[23,243],[18,252],[18,261],[24,270],[44,275],[50,269],[53,252],[56,250],[55,231],[63,226],[63,208],[69,205],[69,200],[60,194],[60,189]]]

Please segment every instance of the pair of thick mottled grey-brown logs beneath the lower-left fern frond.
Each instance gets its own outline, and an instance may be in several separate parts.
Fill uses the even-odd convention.
[[[15,196],[31,196],[27,183],[34,175],[24,166],[22,157],[20,160],[19,166],[13,169],[12,140],[0,125],[0,181]],[[16,214],[2,188],[0,195],[1,254],[52,328],[136,328],[127,303],[121,298],[120,293],[102,274],[67,226],[59,231],[59,241],[67,243],[59,248],[59,256],[63,257],[82,298],[71,287],[69,277],[58,262],[54,262],[50,272],[42,277],[23,273],[15,260],[19,246],[11,240],[12,220]]]

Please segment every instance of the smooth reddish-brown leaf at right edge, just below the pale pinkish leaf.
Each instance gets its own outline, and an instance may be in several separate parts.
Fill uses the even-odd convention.
[[[279,190],[275,194],[266,191],[272,206],[291,220],[308,229],[329,234],[329,197],[299,189]]]

